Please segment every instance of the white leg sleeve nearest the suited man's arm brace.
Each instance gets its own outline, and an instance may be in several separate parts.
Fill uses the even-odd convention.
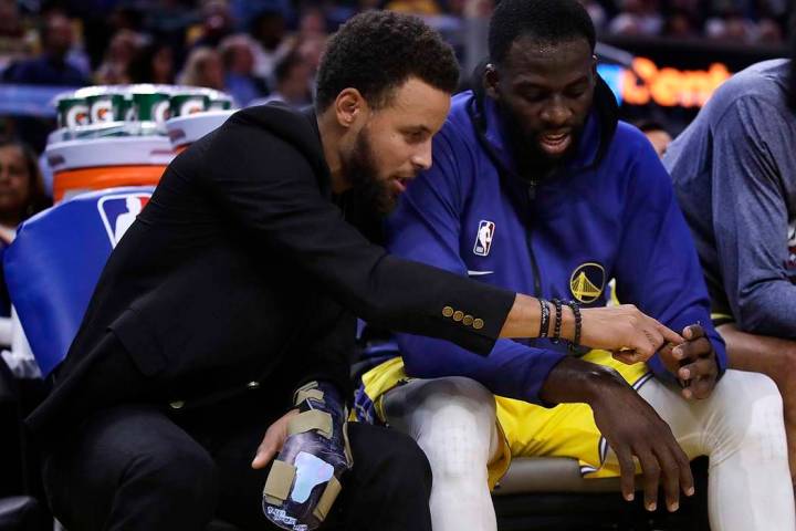
[[[495,531],[486,464],[498,451],[494,396],[464,377],[412,381],[385,397],[388,423],[431,464],[434,531]]]

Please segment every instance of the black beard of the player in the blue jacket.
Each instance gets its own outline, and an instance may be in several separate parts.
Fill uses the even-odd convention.
[[[498,100],[498,114],[504,124],[506,133],[506,145],[516,164],[520,176],[526,179],[540,180],[544,179],[567,162],[572,160],[577,154],[583,136],[584,125],[572,128],[572,143],[567,149],[558,155],[551,156],[540,147],[537,136],[540,131],[530,132],[523,127],[522,122],[517,118],[517,113]]]

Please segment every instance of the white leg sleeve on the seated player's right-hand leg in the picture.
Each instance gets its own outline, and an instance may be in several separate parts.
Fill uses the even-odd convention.
[[[713,531],[796,529],[782,397],[771,378],[727,371],[704,400],[685,400],[654,378],[639,394],[689,458],[709,456]]]

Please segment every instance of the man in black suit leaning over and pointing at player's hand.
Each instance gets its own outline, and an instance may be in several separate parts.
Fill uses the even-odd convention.
[[[430,166],[457,81],[418,19],[366,13],[329,43],[317,114],[241,111],[175,159],[29,418],[67,529],[269,528],[261,489],[291,396],[310,381],[348,394],[355,315],[484,355],[500,335],[538,335],[535,299],[392,258],[346,221],[389,209]],[[635,309],[584,312],[594,346],[643,357],[678,340]],[[562,320],[573,337],[574,315]],[[352,426],[350,444],[328,523],[430,529],[413,442]]]

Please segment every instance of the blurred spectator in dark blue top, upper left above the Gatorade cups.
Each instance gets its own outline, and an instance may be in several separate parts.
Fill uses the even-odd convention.
[[[49,14],[41,31],[41,54],[9,66],[6,79],[10,83],[31,85],[87,85],[90,81],[83,73],[66,61],[73,39],[70,19],[60,12]]]

